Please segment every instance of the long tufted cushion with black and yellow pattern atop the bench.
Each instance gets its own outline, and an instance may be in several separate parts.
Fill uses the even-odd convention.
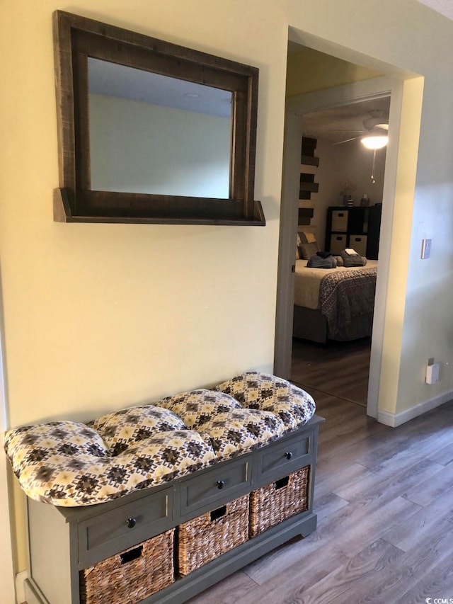
[[[313,414],[314,401],[304,390],[246,372],[213,390],[116,411],[88,425],[56,421],[16,428],[6,433],[5,450],[28,496],[84,506],[263,446]]]

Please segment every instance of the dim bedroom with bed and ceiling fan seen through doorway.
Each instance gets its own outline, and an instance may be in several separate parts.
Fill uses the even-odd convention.
[[[379,96],[302,120],[291,380],[364,408],[386,147],[361,139],[387,134],[389,107]]]

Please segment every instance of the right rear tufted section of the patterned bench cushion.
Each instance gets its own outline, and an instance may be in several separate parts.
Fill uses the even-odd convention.
[[[302,388],[267,373],[248,371],[215,389],[229,394],[249,409],[274,413],[287,430],[302,426],[315,411],[314,399]]]

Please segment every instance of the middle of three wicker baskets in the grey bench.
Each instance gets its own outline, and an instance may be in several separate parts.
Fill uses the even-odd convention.
[[[188,575],[248,540],[248,495],[178,526],[178,572]]]

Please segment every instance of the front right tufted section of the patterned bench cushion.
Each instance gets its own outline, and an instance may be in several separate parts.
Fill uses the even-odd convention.
[[[285,433],[285,424],[273,413],[256,409],[232,409],[204,423],[219,460],[226,460],[267,445]]]

